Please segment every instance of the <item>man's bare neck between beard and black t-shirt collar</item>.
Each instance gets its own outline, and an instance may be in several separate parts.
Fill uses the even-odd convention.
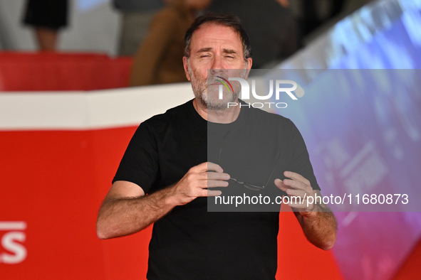
[[[230,124],[235,122],[240,114],[239,106],[229,107],[224,110],[209,110],[200,106],[196,98],[193,99],[193,106],[200,117],[206,119],[208,122],[216,122],[218,124]]]

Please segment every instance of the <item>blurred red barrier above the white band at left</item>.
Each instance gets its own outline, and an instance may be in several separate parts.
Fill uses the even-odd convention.
[[[93,53],[0,52],[0,91],[127,87],[131,63]]]

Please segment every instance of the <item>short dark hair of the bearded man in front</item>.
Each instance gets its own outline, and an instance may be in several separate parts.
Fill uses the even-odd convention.
[[[199,16],[192,23],[192,26],[190,26],[189,30],[187,30],[186,36],[184,36],[184,56],[187,58],[190,57],[190,44],[192,43],[193,33],[204,23],[216,23],[232,28],[240,36],[241,43],[243,44],[244,60],[251,58],[251,45],[249,36],[247,36],[246,31],[244,30],[243,26],[241,26],[241,22],[238,16],[214,13],[207,13],[203,16]]]

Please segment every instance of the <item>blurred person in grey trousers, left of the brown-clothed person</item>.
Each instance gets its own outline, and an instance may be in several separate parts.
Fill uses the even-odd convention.
[[[150,21],[165,6],[165,1],[167,0],[113,0],[113,6],[123,16],[118,55],[135,55],[140,43],[147,36]]]

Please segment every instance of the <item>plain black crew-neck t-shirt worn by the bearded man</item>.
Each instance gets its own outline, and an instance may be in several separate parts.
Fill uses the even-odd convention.
[[[213,124],[199,116],[192,100],[140,124],[113,182],[130,181],[153,193],[206,161],[265,187],[256,192],[229,181],[222,195],[282,195],[273,181],[287,170],[319,189],[301,134],[289,119],[242,107],[232,124]],[[275,279],[279,212],[207,207],[207,198],[197,198],[155,222],[147,278]]]

